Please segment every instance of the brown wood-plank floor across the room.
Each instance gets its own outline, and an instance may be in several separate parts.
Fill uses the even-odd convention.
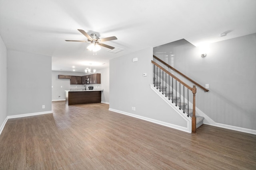
[[[255,170],[256,135],[202,125],[196,134],[108,111],[66,106],[9,119],[0,170]]]

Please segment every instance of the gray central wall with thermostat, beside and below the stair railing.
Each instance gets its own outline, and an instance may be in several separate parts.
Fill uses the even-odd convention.
[[[186,127],[186,121],[150,89],[152,56],[148,48],[110,60],[110,109]]]

